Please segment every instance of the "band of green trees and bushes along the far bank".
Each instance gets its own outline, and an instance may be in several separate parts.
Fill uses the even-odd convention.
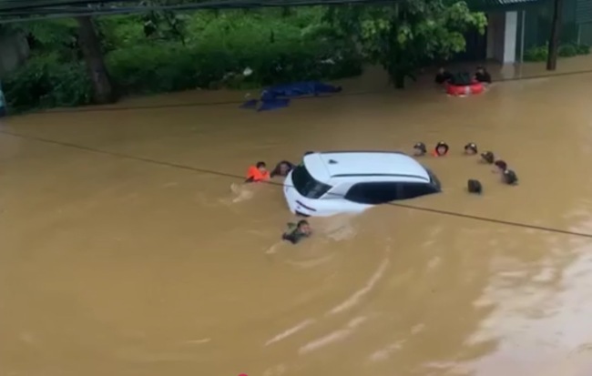
[[[426,60],[463,51],[464,31],[485,25],[463,1],[442,0],[36,21],[4,29],[25,33],[32,55],[3,87],[21,111],[356,76],[365,61],[403,87]]]

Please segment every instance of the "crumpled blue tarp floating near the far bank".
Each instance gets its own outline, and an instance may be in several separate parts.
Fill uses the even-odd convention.
[[[338,93],[341,86],[323,84],[319,81],[297,82],[288,85],[270,86],[263,90],[260,100],[250,99],[242,104],[243,108],[257,108],[258,111],[290,106],[290,98],[302,96],[318,96],[320,94]],[[260,102],[260,107],[258,104]]]

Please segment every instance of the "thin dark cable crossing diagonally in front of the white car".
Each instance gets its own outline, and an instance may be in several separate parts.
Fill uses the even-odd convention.
[[[5,131],[5,130],[0,130],[0,134],[4,134],[6,136],[20,137],[23,139],[34,140],[34,141],[43,142],[46,144],[58,145],[61,147],[76,148],[78,150],[102,154],[102,155],[115,157],[115,158],[137,160],[140,162],[151,163],[151,164],[158,165],[158,166],[184,169],[184,170],[189,170],[189,171],[193,171],[193,172],[198,172],[200,174],[214,175],[214,176],[219,176],[222,178],[240,179],[241,181],[245,180],[244,177],[241,177],[236,174],[230,174],[230,173],[206,169],[206,168],[194,168],[191,166],[181,165],[178,163],[166,162],[166,161],[161,161],[161,160],[152,159],[152,158],[137,157],[137,156],[132,156],[132,155],[124,154],[124,153],[117,153],[117,152],[113,152],[113,151],[102,150],[102,149],[98,149],[98,148],[94,148],[94,147],[85,147],[83,145],[77,145],[77,144],[73,144],[73,143],[69,143],[69,142],[56,141],[56,140],[44,138],[44,137],[21,135],[18,133],[9,132],[9,131]],[[284,187],[283,184],[277,183],[274,181],[265,181],[263,183],[270,184],[271,186]],[[292,187],[292,188],[294,188],[294,187]],[[343,197],[343,195],[335,195],[335,196]],[[440,214],[440,215],[449,216],[449,217],[473,219],[473,220],[479,220],[482,222],[489,222],[489,223],[496,223],[496,224],[505,225],[505,226],[512,226],[512,227],[516,227],[516,228],[536,229],[539,231],[552,232],[552,233],[557,233],[557,234],[565,234],[565,235],[577,236],[577,237],[581,237],[581,238],[592,239],[592,234],[585,233],[585,232],[570,231],[570,230],[566,230],[566,229],[547,228],[544,226],[536,226],[536,225],[531,225],[531,224],[527,224],[527,223],[514,222],[514,221],[509,221],[509,220],[504,220],[504,219],[486,218],[486,217],[474,216],[474,215],[470,215],[470,214],[463,214],[463,213],[458,213],[458,212],[454,212],[454,211],[441,210],[441,209],[435,209],[435,208],[422,208],[422,207],[417,207],[414,205],[400,204],[400,203],[396,203],[396,202],[390,202],[385,205],[390,205],[390,206],[398,207],[398,208],[407,208],[407,209],[412,209],[412,210],[425,211],[425,212]]]

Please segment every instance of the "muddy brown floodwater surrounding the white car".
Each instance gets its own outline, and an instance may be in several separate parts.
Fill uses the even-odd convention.
[[[158,107],[243,95],[218,92],[3,120],[0,375],[592,374],[591,239],[381,206],[311,218],[291,246],[280,187],[160,163],[242,176],[445,140],[424,158],[444,193],[407,204],[592,233],[592,75],[465,98],[373,75],[266,113]],[[469,141],[520,184],[462,156]]]

